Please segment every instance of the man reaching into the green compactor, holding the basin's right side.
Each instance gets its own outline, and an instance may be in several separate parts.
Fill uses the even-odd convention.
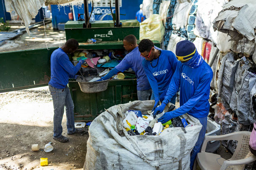
[[[125,56],[122,61],[116,65],[107,75],[102,77],[101,80],[110,79],[113,75],[118,72],[124,72],[128,68],[131,68],[137,77],[137,96],[138,100],[148,100],[151,94],[151,87],[146,77],[145,71],[142,66],[143,58],[140,57],[140,51],[137,45],[137,39],[134,35],[130,34],[124,37],[123,40],[124,48],[129,53]]]

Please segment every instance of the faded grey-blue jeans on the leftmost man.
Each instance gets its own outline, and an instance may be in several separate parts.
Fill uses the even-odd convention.
[[[66,107],[67,116],[67,132],[75,132],[75,120],[74,120],[74,103],[71,98],[69,88],[66,86],[64,89],[58,89],[49,85],[49,90],[52,95],[54,116],[53,116],[53,136],[61,137],[62,133],[62,118],[64,114],[64,106]]]

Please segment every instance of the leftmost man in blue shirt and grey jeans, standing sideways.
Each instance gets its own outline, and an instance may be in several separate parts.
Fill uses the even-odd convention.
[[[84,60],[80,59],[77,65],[74,66],[67,55],[76,51],[78,46],[79,44],[75,39],[69,39],[64,45],[53,51],[51,55],[51,79],[49,81],[49,90],[52,95],[54,108],[53,139],[58,142],[68,141],[68,138],[61,134],[64,106],[66,106],[67,134],[71,135],[83,132],[83,130],[75,128],[74,103],[69,88],[67,87],[68,79],[76,79],[76,73],[84,63]]]

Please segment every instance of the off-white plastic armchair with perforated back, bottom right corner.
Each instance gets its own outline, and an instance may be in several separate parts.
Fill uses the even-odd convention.
[[[240,131],[219,136],[205,136],[201,152],[197,154],[193,170],[197,164],[201,170],[244,170],[247,163],[256,160],[249,150],[250,133]],[[237,147],[230,159],[223,159],[220,155],[205,152],[207,142],[214,140],[236,140]]]

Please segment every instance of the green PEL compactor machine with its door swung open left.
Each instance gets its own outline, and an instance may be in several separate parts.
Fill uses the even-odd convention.
[[[79,48],[93,50],[122,50],[123,38],[134,34],[140,39],[140,23],[137,20],[119,20],[119,0],[116,0],[115,20],[90,20],[88,2],[84,0],[84,21],[68,21],[65,24],[66,39],[74,38]],[[87,43],[88,39],[102,39],[101,42]],[[160,42],[154,41],[160,47]],[[50,57],[57,49],[41,48],[0,53],[1,74],[0,92],[16,91],[48,85],[50,80]],[[72,59],[72,56],[70,56]],[[78,73],[79,74],[79,73]],[[97,93],[84,93],[78,82],[69,81],[69,88],[74,102],[76,122],[92,121],[105,109],[137,100],[137,79],[109,80],[108,88]]]

